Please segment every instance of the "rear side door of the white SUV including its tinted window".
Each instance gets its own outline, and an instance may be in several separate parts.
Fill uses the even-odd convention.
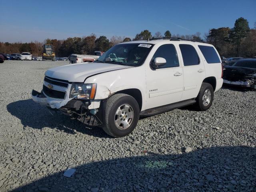
[[[204,62],[192,44],[179,44],[184,72],[184,91],[181,100],[196,98],[205,78]]]

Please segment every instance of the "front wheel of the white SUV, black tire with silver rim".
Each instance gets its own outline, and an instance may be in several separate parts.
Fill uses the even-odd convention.
[[[117,112],[119,115],[116,115]],[[128,117],[129,114],[131,118]],[[126,136],[137,126],[139,116],[140,108],[138,102],[132,96],[127,94],[114,94],[106,103],[105,116],[103,117],[103,130],[113,137]],[[119,127],[117,126],[117,124],[119,124],[118,122],[121,122]],[[122,124],[122,122],[124,122],[124,124]],[[125,125],[126,127],[124,127]]]

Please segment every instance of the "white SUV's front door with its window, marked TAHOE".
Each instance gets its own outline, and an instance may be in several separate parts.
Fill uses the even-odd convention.
[[[160,68],[146,67],[146,109],[178,102],[183,92],[183,69],[174,44],[159,46],[151,62],[156,57],[165,58],[166,65]]]

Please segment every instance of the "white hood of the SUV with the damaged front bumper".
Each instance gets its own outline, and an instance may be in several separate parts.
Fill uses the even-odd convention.
[[[49,69],[45,72],[45,75],[69,82],[84,82],[89,76],[126,68],[132,67],[109,63],[79,63]]]

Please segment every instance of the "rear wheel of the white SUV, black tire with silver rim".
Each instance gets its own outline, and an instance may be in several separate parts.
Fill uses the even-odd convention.
[[[212,106],[214,90],[211,84],[202,83],[198,96],[196,97],[196,108],[200,111],[206,111]]]

